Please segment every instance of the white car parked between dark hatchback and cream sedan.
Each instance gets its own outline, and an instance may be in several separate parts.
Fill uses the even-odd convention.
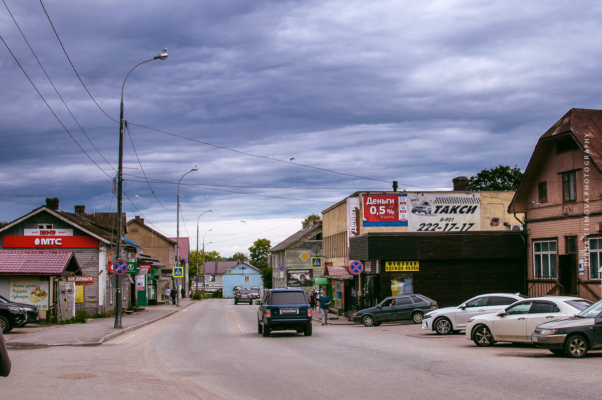
[[[450,334],[466,328],[468,318],[498,312],[524,296],[512,293],[489,293],[465,301],[457,307],[444,307],[424,314],[422,328],[437,334]]]

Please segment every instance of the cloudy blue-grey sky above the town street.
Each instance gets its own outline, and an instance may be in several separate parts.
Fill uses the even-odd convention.
[[[0,220],[116,211],[123,79],[165,47],[125,85],[123,210],[176,236],[198,165],[180,235],[224,256],[357,190],[524,169],[602,108],[597,1],[3,3]]]

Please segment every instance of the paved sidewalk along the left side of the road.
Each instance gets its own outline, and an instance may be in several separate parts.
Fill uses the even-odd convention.
[[[128,333],[152,324],[160,319],[167,318],[179,310],[196,304],[197,301],[189,298],[179,299],[179,306],[161,305],[147,306],[144,311],[122,315],[122,327],[113,328],[115,317],[88,319],[85,324],[52,325],[42,330],[27,333],[27,326],[14,328],[5,334],[8,348],[36,348],[49,346],[98,346],[113,337]],[[21,332],[21,333],[19,333]]]

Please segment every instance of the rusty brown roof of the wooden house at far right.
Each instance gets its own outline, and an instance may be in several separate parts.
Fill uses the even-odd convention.
[[[525,168],[523,179],[508,206],[508,212],[514,212],[515,202],[524,200],[526,195],[524,191],[530,190],[529,187],[524,186],[529,186],[532,175],[537,173],[539,165],[535,165],[537,164],[535,160],[541,151],[541,143],[560,135],[571,135],[579,147],[589,153],[589,158],[595,167],[602,171],[602,110],[571,108],[545,134],[539,137],[529,164]]]

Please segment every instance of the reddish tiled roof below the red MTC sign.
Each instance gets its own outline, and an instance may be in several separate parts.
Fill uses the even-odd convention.
[[[73,250],[0,250],[0,274],[81,275]]]

